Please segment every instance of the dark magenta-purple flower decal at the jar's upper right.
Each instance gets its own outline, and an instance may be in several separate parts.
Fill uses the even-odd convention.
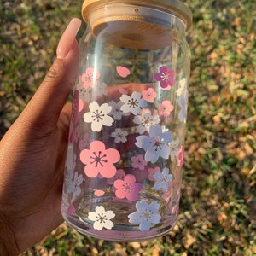
[[[154,79],[160,81],[160,86],[166,88],[175,84],[175,71],[168,69],[166,66],[161,66],[160,72],[154,74]]]

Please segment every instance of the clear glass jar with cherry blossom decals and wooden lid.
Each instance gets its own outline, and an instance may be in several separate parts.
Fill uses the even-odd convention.
[[[86,0],[62,214],[108,241],[177,221],[188,105],[190,10],[179,1]]]

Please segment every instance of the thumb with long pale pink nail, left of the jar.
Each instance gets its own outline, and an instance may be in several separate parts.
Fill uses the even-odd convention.
[[[57,48],[57,58],[20,115],[26,125],[41,125],[45,132],[55,129],[78,74],[79,46],[75,36],[80,25],[81,20],[73,19],[63,33]]]

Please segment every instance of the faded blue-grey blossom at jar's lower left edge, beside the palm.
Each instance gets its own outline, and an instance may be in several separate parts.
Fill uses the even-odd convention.
[[[64,193],[70,193],[73,195],[73,198],[77,197],[81,193],[80,185],[83,183],[82,174],[78,174],[78,172],[74,172],[73,170],[68,170],[65,175],[64,181]]]

